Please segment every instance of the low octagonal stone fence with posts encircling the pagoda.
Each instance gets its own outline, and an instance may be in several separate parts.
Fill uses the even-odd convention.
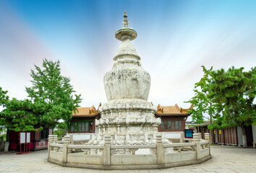
[[[160,134],[152,145],[111,145],[110,136],[104,136],[103,146],[74,145],[72,136],[64,136],[63,143],[58,143],[56,136],[48,138],[48,161],[66,167],[155,169],[199,164],[208,159],[209,141],[197,133],[189,143],[163,143]]]

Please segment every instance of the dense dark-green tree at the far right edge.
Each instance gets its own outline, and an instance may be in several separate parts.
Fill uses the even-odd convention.
[[[243,71],[244,68],[223,68],[211,71],[211,86],[209,91],[214,95],[213,101],[221,106],[214,126],[229,128],[240,126],[243,143],[247,146],[244,126],[256,124],[256,106],[253,100],[256,95],[256,68]],[[218,124],[217,124],[218,123]]]

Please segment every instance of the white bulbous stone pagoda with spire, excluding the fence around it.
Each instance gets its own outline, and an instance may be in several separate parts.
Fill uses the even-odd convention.
[[[121,45],[113,58],[114,66],[104,76],[108,102],[96,122],[98,134],[88,145],[103,145],[103,136],[111,136],[111,145],[153,144],[161,123],[160,118],[155,118],[155,108],[147,101],[150,74],[142,68],[140,56],[132,45],[137,32],[128,28],[127,12],[122,24],[123,28],[115,34]]]

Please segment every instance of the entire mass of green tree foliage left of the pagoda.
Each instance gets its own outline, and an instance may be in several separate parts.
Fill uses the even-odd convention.
[[[44,59],[43,68],[35,66],[30,76],[32,86],[26,87],[30,99],[9,100],[7,91],[0,87],[0,106],[4,107],[0,112],[0,127],[15,131],[67,127],[81,99],[74,94],[70,79],[61,76],[59,61]]]

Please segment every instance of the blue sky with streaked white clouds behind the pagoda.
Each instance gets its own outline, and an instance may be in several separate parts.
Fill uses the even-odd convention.
[[[193,96],[202,68],[256,65],[256,1],[0,1],[0,86],[24,99],[30,69],[61,61],[83,107],[105,103],[103,76],[119,47],[124,10],[142,66],[148,101],[178,104]]]

